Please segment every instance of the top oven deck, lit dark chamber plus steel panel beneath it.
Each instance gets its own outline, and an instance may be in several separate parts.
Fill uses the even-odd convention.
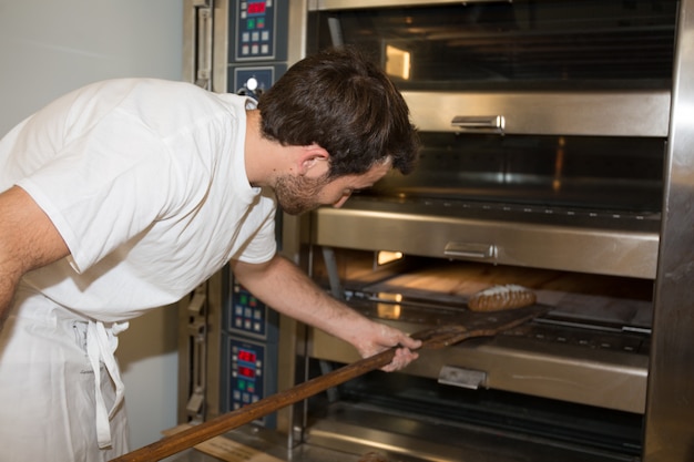
[[[666,136],[676,4],[318,0],[307,52],[367,52],[423,131]]]

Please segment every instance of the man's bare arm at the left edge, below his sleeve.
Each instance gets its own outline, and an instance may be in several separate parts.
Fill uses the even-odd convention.
[[[0,194],[0,329],[24,273],[69,255],[50,218],[22,188]]]

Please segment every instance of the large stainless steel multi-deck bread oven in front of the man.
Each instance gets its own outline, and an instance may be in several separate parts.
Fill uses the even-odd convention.
[[[217,37],[233,23],[217,11],[227,3],[244,2],[214,2],[216,25],[203,31],[214,31],[222,64],[203,75],[264,64],[231,62],[234,40]],[[382,66],[423,148],[412,174],[341,208],[283,216],[284,255],[409,332],[453,318],[492,285],[524,286],[551,310],[279,411],[269,440],[290,452],[278,453],[692,460],[694,1],[302,0],[285,27],[287,65],[347,44]],[[224,76],[211,90],[238,86]],[[226,297],[229,277],[213,278],[208,298]],[[215,363],[227,302],[216,305],[195,325],[213,333]],[[358,359],[292,319],[275,328],[273,389]],[[225,367],[207,380],[207,417],[225,411],[211,386]],[[236,438],[254,440],[258,427]]]

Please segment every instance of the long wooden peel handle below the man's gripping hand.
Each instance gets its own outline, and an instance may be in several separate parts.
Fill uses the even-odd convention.
[[[167,458],[243,424],[251,423],[286,405],[313,397],[328,388],[344,383],[371,370],[380,369],[392,361],[395,351],[396,349],[391,348],[369,358],[360,359],[351,365],[292,387],[288,390],[272,394],[180,433],[163,438],[152,444],[113,459],[111,462],[151,462]]]

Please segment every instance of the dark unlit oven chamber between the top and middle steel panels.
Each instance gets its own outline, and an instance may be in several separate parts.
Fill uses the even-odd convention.
[[[469,203],[657,219],[665,142],[657,137],[420,134],[419,165],[359,197]],[[482,206],[483,205],[483,206]]]

